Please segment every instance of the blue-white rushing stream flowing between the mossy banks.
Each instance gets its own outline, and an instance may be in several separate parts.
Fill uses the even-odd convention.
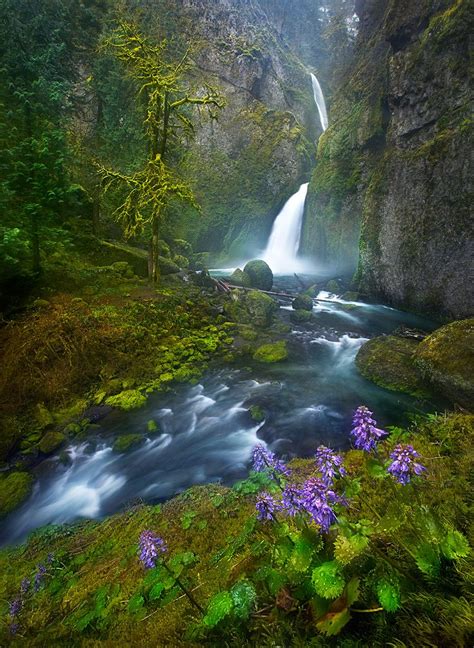
[[[329,293],[319,297],[329,301],[315,302],[311,327],[292,325],[286,362],[208,371],[197,385],[151,395],[140,410],[113,412],[87,440],[42,461],[31,497],[3,520],[0,542],[22,541],[46,524],[102,518],[139,499],[162,501],[193,484],[232,484],[247,474],[257,442],[286,459],[311,456],[321,443],[346,448],[352,412],[361,404],[384,426],[435,408],[376,387],[354,364],[369,337],[400,325],[430,330],[432,322]],[[287,321],[289,310],[282,305]],[[263,421],[252,419],[252,405],[261,407]],[[158,433],[147,432],[150,420]],[[115,440],[131,433],[142,434],[142,443],[115,452]]]

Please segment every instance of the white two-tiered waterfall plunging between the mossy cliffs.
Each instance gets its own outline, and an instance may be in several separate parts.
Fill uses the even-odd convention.
[[[311,74],[311,82],[321,127],[325,131],[328,126],[328,115],[323,92],[314,74]],[[304,272],[304,263],[298,258],[298,250],[307,193],[308,183],[306,182],[287,200],[273,223],[270,238],[262,258],[275,274]]]

